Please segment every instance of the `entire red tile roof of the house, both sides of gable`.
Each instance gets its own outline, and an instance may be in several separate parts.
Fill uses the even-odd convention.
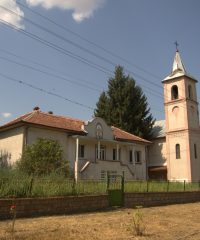
[[[12,126],[16,126],[18,124],[24,124],[24,123],[57,128],[57,129],[65,130],[68,132],[72,132],[74,134],[87,134],[83,128],[85,123],[83,120],[44,113],[44,112],[41,112],[40,110],[35,110],[33,112],[27,113],[3,126],[0,126],[0,131],[6,130],[8,127],[12,127]],[[127,142],[140,142],[140,143],[146,143],[146,144],[150,143],[145,139],[137,137],[128,132],[125,132],[119,128],[116,128],[116,127],[111,127],[111,128],[113,131],[114,138],[116,140],[127,141]]]

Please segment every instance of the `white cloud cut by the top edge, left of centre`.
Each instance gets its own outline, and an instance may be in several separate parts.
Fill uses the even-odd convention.
[[[101,7],[105,0],[26,0],[30,6],[42,6],[46,9],[60,8],[72,10],[75,21],[81,22],[93,16],[93,12]]]

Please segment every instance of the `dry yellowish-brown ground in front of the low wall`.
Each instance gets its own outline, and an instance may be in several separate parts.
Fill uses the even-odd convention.
[[[0,239],[31,240],[200,240],[200,203],[142,209],[146,234],[133,231],[133,209],[0,222]]]

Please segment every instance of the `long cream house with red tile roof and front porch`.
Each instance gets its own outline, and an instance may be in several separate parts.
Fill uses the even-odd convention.
[[[84,122],[36,109],[0,127],[0,150],[13,164],[38,138],[57,140],[79,179],[104,179],[108,172],[124,172],[126,179],[147,177],[150,142],[110,127],[101,118]]]

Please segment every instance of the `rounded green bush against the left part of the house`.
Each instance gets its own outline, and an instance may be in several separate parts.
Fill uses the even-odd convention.
[[[52,172],[68,174],[67,162],[58,141],[38,139],[28,145],[17,163],[19,170],[28,174],[46,175]]]

